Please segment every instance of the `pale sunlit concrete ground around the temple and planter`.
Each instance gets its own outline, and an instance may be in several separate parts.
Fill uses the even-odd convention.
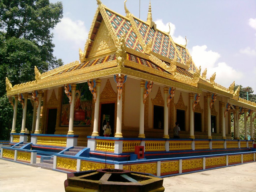
[[[63,192],[67,174],[0,159],[0,192]],[[256,192],[256,162],[164,178],[165,192]]]

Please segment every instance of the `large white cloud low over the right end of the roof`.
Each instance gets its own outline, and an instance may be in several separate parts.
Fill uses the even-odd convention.
[[[201,66],[201,72],[207,68],[207,79],[216,72],[215,82],[225,87],[229,87],[234,80],[240,80],[244,76],[242,72],[230,67],[225,62],[217,63],[221,55],[212,50],[207,50],[206,45],[193,46],[191,56],[196,66]]]

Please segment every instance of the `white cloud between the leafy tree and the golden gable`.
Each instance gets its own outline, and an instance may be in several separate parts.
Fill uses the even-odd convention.
[[[53,30],[54,37],[65,43],[72,43],[74,48],[78,49],[79,46],[83,45],[87,39],[88,31],[81,20],[75,20],[68,17],[63,17],[61,22],[56,25]]]

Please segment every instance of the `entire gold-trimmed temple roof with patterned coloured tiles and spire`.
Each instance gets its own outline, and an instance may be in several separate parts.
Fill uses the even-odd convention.
[[[216,74],[210,80],[206,79],[207,69],[201,76],[201,68],[196,67],[186,48],[187,38],[186,44],[180,45],[173,41],[170,30],[158,30],[152,20],[151,4],[146,22],[132,15],[125,4],[126,16],[110,10],[100,0],[97,0],[97,4],[88,39],[84,49],[79,49],[80,62],[74,61],[42,74],[35,67],[36,80],[15,86],[7,78],[7,96],[80,82],[86,80],[84,78],[122,72],[129,75],[137,71],[140,77],[142,73],[145,77],[155,76],[154,82],[165,82],[167,85],[170,84],[167,81],[172,80],[172,86],[186,87],[186,90],[197,93],[200,88],[235,99],[239,103],[256,106],[256,103],[238,98],[239,87],[234,92],[234,82],[226,88],[214,82]]]

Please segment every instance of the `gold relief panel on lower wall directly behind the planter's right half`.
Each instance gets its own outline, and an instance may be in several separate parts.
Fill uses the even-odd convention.
[[[124,165],[124,170],[140,172],[140,173],[150,173],[150,174],[157,174],[157,163],[142,163],[142,164],[135,164],[135,165]]]

